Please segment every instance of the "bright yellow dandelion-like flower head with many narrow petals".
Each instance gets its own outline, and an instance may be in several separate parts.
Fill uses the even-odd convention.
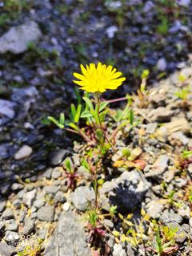
[[[125,77],[121,77],[122,72],[116,70],[112,66],[106,67],[105,64],[98,63],[96,66],[94,63],[90,65],[80,66],[82,69],[82,75],[74,73],[74,77],[79,79],[79,81],[74,80],[80,86],[80,89],[89,92],[103,92],[107,89],[115,90],[119,87],[123,81],[126,80]]]

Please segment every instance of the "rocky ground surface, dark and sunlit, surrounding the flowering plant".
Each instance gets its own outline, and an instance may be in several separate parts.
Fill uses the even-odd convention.
[[[182,158],[192,148],[191,2],[19,2],[0,3],[0,255],[32,246],[42,255],[99,255],[102,248],[101,255],[151,256],[156,254],[156,234],[150,230],[155,221],[162,237],[165,226],[175,230],[173,255],[192,254],[192,170]],[[95,194],[82,166],[86,149],[46,116],[69,113],[77,99],[71,74],[79,63],[98,60],[113,63],[127,78],[104,98],[137,87],[146,68],[153,87],[144,103],[133,97],[134,128],[125,127],[116,137],[118,152],[128,148],[134,164],[113,166],[118,157],[112,151],[103,161],[98,205],[103,217],[97,231],[106,234],[90,252],[86,213]],[[107,122],[111,132],[116,124],[111,118]],[[78,173],[74,189],[68,188],[66,156]],[[143,168],[135,167],[137,161]],[[115,205],[130,218],[110,217]],[[150,219],[143,226],[141,209]],[[123,242],[122,235],[133,227],[140,235],[137,245],[133,230]],[[147,250],[143,241],[149,242]]]

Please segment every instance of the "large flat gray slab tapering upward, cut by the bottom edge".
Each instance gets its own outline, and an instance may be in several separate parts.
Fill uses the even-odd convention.
[[[82,219],[80,220],[71,211],[61,214],[54,235],[46,242],[45,247],[45,256],[91,255],[86,243]]]

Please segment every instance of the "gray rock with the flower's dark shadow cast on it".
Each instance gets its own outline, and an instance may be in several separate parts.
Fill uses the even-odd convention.
[[[106,181],[100,194],[108,193],[110,204],[117,205],[120,213],[127,213],[141,203],[150,187],[150,182],[146,181],[142,173],[133,170],[122,173],[117,179]]]

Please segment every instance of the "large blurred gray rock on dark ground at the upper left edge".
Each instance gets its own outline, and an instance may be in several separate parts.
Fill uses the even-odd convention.
[[[11,27],[6,34],[0,38],[0,53],[11,51],[19,54],[27,50],[31,42],[37,42],[42,33],[36,22],[28,22],[22,26]]]

